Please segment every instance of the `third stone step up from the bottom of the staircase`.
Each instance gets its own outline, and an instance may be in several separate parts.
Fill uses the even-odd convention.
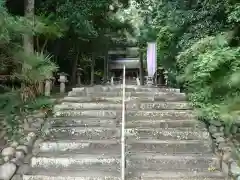
[[[211,153],[208,140],[126,140],[126,152],[155,152],[160,154]],[[48,140],[39,144],[39,152],[121,153],[117,140]]]

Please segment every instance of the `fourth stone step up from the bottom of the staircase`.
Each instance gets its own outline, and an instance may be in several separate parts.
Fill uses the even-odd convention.
[[[106,140],[119,139],[121,128],[106,127],[56,127],[50,129],[49,136],[60,139]],[[128,128],[125,130],[127,139],[149,140],[207,140],[209,133],[204,129],[192,128]]]

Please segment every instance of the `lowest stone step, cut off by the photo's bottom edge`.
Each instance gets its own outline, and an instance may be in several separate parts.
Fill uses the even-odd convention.
[[[32,169],[31,175],[25,175],[23,180],[121,180],[120,173],[98,171],[71,171],[62,169]],[[224,180],[220,172],[176,172],[176,171],[146,171],[126,175],[128,180]]]

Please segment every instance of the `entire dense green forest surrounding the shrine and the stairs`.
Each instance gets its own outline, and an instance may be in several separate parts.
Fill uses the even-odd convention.
[[[45,79],[64,71],[74,85],[80,67],[94,83],[109,49],[132,43],[145,51],[149,41],[168,84],[187,93],[200,118],[229,127],[238,119],[238,0],[2,0],[0,14],[0,101],[10,130],[33,109],[27,104],[37,102]]]

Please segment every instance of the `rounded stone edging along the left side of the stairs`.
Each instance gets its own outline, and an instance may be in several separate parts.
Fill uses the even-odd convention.
[[[21,180],[30,166],[32,150],[38,134],[47,118],[47,114],[37,112],[27,116],[31,124],[24,137],[19,141],[9,142],[0,154],[0,180]]]

